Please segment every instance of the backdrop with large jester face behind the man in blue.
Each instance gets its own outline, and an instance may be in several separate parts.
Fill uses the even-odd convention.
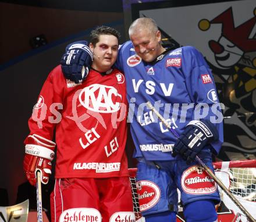
[[[133,19],[152,17],[162,32],[163,44],[193,45],[202,52],[214,74],[219,99],[225,104],[222,157],[255,159],[255,1],[175,4],[133,5]]]

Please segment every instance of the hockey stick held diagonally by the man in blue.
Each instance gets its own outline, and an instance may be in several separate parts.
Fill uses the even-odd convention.
[[[157,115],[159,120],[161,120],[161,122],[173,133],[173,135],[175,135],[176,138],[179,138],[179,134],[177,134],[177,132],[170,126],[170,124],[165,119],[163,119],[161,114],[157,110],[155,110],[151,102],[147,102],[147,106]],[[234,197],[234,195],[229,191],[229,189],[225,187],[225,185],[221,182],[221,180],[219,180],[219,178],[216,177],[214,173],[212,173],[209,167],[204,162],[202,162],[202,160],[198,156],[195,156],[195,160],[197,160],[197,162],[200,163],[202,167],[204,167],[204,169],[207,171],[209,176],[211,176],[214,179],[214,181],[219,185],[219,187],[223,189],[226,195],[233,200],[233,202],[236,204],[237,207],[239,207],[241,212],[246,214],[247,219],[250,219],[251,222],[256,222],[253,216],[251,216],[251,214],[243,207],[243,205],[241,205],[241,203]]]

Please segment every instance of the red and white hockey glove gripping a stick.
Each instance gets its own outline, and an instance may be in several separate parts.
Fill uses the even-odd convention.
[[[31,185],[36,184],[36,172],[38,170],[41,172],[42,183],[48,183],[52,169],[51,161],[54,159],[55,145],[55,142],[40,137],[37,134],[27,137],[23,169]]]

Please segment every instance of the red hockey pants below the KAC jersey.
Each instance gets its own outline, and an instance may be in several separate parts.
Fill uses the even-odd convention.
[[[59,222],[65,210],[82,207],[97,209],[102,222],[116,212],[133,212],[129,177],[56,179],[51,194],[52,222]]]

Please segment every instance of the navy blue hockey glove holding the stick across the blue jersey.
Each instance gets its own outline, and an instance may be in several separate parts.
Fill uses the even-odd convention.
[[[172,156],[175,157],[179,154],[189,164],[195,160],[195,156],[206,144],[218,139],[218,131],[211,121],[190,121],[173,146]]]

